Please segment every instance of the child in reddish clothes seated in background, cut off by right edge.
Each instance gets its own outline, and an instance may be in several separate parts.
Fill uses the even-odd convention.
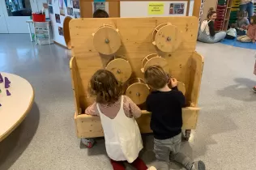
[[[256,40],[256,15],[250,19],[250,25],[248,26],[247,34],[245,36],[237,37],[237,40],[241,42],[255,42]]]

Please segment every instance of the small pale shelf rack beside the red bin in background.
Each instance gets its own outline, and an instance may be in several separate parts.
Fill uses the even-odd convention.
[[[53,32],[50,22],[34,22],[36,45],[53,44]]]

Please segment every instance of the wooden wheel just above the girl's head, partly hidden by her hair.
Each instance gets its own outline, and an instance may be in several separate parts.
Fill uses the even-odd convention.
[[[111,71],[117,78],[118,81],[125,83],[130,79],[132,73],[130,63],[124,58],[114,57],[107,66],[106,70]]]

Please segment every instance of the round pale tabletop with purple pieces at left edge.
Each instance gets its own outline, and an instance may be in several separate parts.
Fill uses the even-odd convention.
[[[7,88],[11,96],[6,95],[5,83],[0,83],[0,142],[6,138],[27,116],[34,101],[34,91],[30,83],[15,74],[3,73],[11,84]]]

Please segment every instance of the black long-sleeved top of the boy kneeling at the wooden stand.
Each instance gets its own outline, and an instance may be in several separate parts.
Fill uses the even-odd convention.
[[[153,91],[147,96],[147,111],[151,112],[151,130],[154,138],[173,138],[181,133],[182,107],[185,96],[177,87],[172,91]]]

